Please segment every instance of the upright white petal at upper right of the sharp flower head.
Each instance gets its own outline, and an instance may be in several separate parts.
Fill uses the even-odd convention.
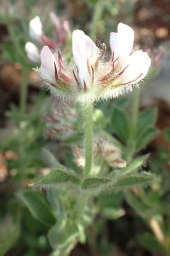
[[[128,57],[132,51],[134,42],[134,30],[126,24],[119,23],[117,33],[111,32],[110,46],[114,52],[114,60]]]

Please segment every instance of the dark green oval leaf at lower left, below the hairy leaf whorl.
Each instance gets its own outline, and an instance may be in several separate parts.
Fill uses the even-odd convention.
[[[46,202],[45,197],[37,191],[25,191],[20,194],[20,198],[27,205],[32,216],[42,224],[52,226],[56,222],[56,217]]]

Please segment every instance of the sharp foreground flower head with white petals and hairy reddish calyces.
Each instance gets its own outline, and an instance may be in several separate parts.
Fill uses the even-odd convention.
[[[50,92],[59,98],[94,102],[132,90],[131,85],[147,75],[151,60],[142,50],[130,55],[134,42],[131,27],[119,23],[117,30],[111,32],[109,60],[105,60],[105,44],[94,43],[81,30],[72,36],[74,66],[63,61],[59,51],[44,46],[40,77]]]

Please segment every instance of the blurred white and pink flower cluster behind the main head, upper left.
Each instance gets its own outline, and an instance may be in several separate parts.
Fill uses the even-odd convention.
[[[40,46],[48,46],[50,49],[54,49],[58,46],[66,44],[67,36],[70,36],[70,22],[69,20],[63,20],[61,23],[53,12],[49,13],[50,18],[54,24],[56,30],[56,36],[54,39],[48,38],[42,31],[42,24],[39,16],[31,19],[29,22],[29,36],[35,40]],[[31,43],[25,44],[25,51],[27,52],[28,59],[37,62],[40,61],[40,50],[39,48]]]

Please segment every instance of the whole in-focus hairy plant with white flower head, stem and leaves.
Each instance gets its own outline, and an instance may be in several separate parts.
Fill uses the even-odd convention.
[[[33,216],[50,226],[48,238],[55,256],[68,255],[76,242],[86,241],[86,227],[96,214],[93,201],[95,196],[103,192],[113,193],[127,190],[134,185],[147,184],[155,177],[149,172],[138,172],[148,155],[133,159],[131,154],[125,159],[128,154],[122,154],[125,147],[116,138],[103,129],[95,129],[93,136],[94,123],[97,124],[100,114],[100,111],[94,112],[94,102],[115,98],[132,90],[133,86],[147,75],[150,57],[143,51],[130,55],[134,31],[122,23],[118,24],[117,33],[111,33],[112,54],[107,61],[105,44],[98,41],[94,43],[81,30],[75,30],[72,39],[75,65],[63,61],[59,51],[44,46],[40,53],[41,68],[38,72],[42,84],[54,96],[77,104],[76,111],[71,111],[71,105],[57,102],[54,114],[46,117],[52,135],[56,131],[62,140],[63,134],[60,132],[72,134],[75,124],[82,123],[82,119],[77,118],[76,113],[79,111],[83,117],[81,132],[84,133],[84,141],[82,143],[78,140],[78,145],[72,141],[71,148],[75,160],[70,168],[59,163],[49,151],[45,151],[44,155],[51,171],[33,181],[31,186],[48,188],[46,193],[51,207],[40,192],[27,191],[22,195]],[[124,117],[124,114],[121,115],[122,110],[114,109],[114,119],[120,129],[122,127],[119,118]],[[127,122],[125,117],[125,126],[129,129]],[[125,129],[126,127],[123,127],[123,130]],[[118,138],[120,134],[121,131],[118,130]],[[128,133],[123,136],[121,134],[120,139],[125,139],[126,142],[127,136]],[[128,144],[127,148],[129,146]],[[32,204],[35,200],[39,207]],[[42,208],[45,209],[45,215],[41,213]]]

